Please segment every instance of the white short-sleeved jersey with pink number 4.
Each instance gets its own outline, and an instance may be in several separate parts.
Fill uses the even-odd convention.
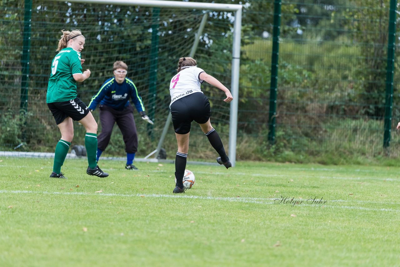
[[[200,80],[200,73],[204,72],[201,68],[197,66],[184,67],[183,70],[178,72],[171,79],[170,83],[170,95],[171,104],[184,96],[193,94],[195,92],[201,92],[200,84],[203,80]]]

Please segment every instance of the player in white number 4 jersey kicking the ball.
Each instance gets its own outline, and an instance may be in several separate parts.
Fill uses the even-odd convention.
[[[219,157],[217,162],[224,165],[226,169],[232,167],[228,156],[225,153],[224,145],[210,122],[210,102],[200,89],[203,81],[216,86],[225,92],[225,102],[232,101],[232,94],[220,81],[207,74],[197,67],[197,62],[191,57],[183,57],[178,61],[178,73],[172,77],[170,82],[171,103],[170,110],[172,124],[176,140],[178,141],[178,152],[175,158],[176,184],[173,193],[183,193],[186,189],[183,186],[183,176],[186,169],[186,159],[189,151],[190,126],[194,120],[204,134],[208,137],[212,147]]]

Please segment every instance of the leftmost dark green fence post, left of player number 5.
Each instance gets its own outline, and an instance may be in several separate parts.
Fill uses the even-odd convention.
[[[24,118],[26,125],[26,116],[28,115],[28,85],[29,85],[29,54],[30,54],[30,32],[32,18],[32,0],[25,0],[24,12],[24,33],[22,42],[22,77],[21,77],[21,103],[20,114]],[[26,130],[22,130],[22,140],[26,140]]]

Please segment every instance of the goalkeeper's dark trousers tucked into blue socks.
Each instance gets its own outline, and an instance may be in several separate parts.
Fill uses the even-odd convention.
[[[133,107],[127,106],[123,110],[116,110],[106,105],[100,105],[101,133],[97,137],[97,148],[104,151],[110,143],[112,128],[116,123],[122,132],[126,153],[138,151],[138,134],[133,118]]]

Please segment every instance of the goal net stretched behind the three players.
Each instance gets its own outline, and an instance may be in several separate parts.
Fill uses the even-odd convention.
[[[82,58],[91,76],[78,83],[78,96],[86,104],[103,82],[113,76],[112,64],[116,60],[128,65],[127,77],[134,81],[146,113],[154,121],[154,125],[147,124],[134,111],[139,136],[138,158],[145,157],[160,144],[169,114],[168,86],[180,57],[188,56],[195,49],[198,65],[228,88],[232,86],[232,71],[237,72],[234,78],[238,79],[238,51],[236,57],[232,56],[235,38],[240,45],[240,34],[234,34],[232,8],[238,5],[224,5],[224,11],[221,5],[216,8],[213,4],[192,3],[198,4],[194,7],[188,2],[173,1],[25,1],[30,2],[30,7],[20,2],[0,11],[4,32],[0,43],[3,51],[8,50],[0,73],[0,111],[4,114],[1,123],[11,129],[2,132],[0,150],[54,151],[59,132],[46,105],[46,90],[51,60],[64,29],[80,29],[86,38]],[[204,18],[206,23],[199,32]],[[230,120],[235,117],[232,104],[222,101],[225,96],[218,88],[204,83],[202,90],[212,106],[213,126],[227,151],[234,152],[230,127]],[[237,114],[237,102],[234,112]],[[94,111],[94,116],[98,120],[98,111]],[[98,124],[100,132],[100,120]],[[84,145],[84,127],[75,125],[74,128],[72,145]],[[200,127],[193,125],[190,134],[191,158],[212,159],[215,153]],[[233,139],[236,145],[236,136]],[[174,158],[176,140],[172,124],[166,127],[162,148],[167,158]],[[103,155],[125,155],[118,127],[114,127]]]

